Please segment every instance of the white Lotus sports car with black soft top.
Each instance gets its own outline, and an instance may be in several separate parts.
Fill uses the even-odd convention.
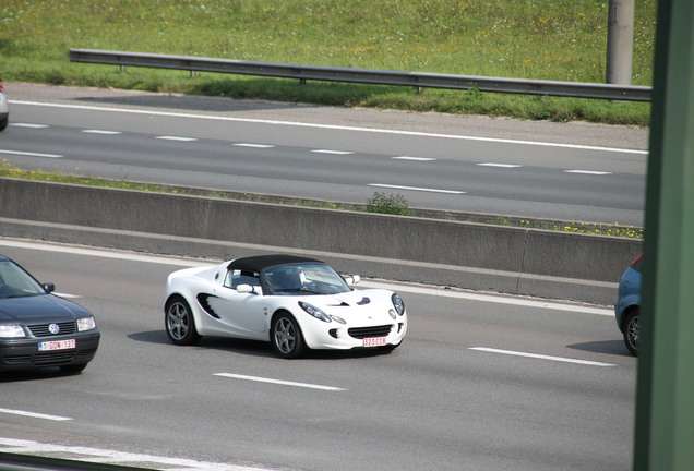
[[[176,345],[204,335],[270,341],[279,357],[308,349],[376,347],[392,350],[407,331],[400,297],[388,290],[355,290],[323,262],[292,255],[259,255],[212,268],[169,275],[165,326]]]

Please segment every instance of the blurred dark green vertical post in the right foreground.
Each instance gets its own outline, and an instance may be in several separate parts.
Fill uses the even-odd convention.
[[[635,471],[694,470],[694,2],[659,0]]]

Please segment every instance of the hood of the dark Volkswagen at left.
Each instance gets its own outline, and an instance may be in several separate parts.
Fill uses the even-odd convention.
[[[70,322],[89,315],[86,309],[55,294],[0,299],[0,322]]]

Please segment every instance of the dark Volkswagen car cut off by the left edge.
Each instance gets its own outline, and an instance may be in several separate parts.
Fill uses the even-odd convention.
[[[53,290],[0,255],[0,371],[80,372],[94,359],[100,339],[94,316]]]

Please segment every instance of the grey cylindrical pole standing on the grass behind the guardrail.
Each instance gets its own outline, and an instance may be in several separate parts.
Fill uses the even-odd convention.
[[[634,1],[610,0],[609,3],[606,82],[610,84],[632,84]]]

